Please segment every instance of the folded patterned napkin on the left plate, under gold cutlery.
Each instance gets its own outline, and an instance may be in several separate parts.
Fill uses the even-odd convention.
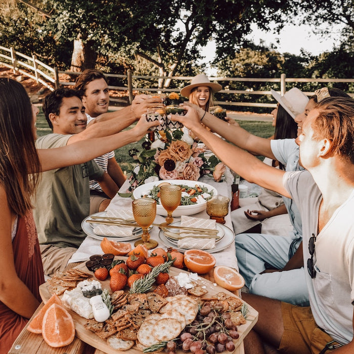
[[[105,216],[121,217],[123,219],[128,219],[133,217],[133,214],[130,209],[115,209],[115,210],[107,210]],[[97,224],[94,227],[94,233],[99,236],[127,237],[132,235],[134,228],[135,228],[134,226],[114,226],[114,225]]]

